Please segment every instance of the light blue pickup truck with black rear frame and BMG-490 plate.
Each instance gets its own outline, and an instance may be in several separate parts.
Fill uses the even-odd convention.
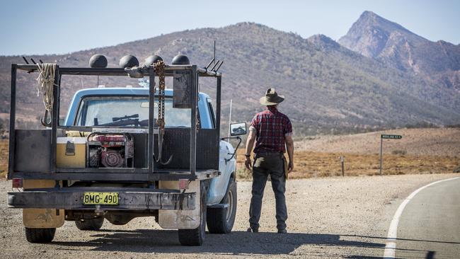
[[[11,80],[8,178],[18,189],[8,192],[8,207],[23,209],[29,242],[51,242],[65,220],[96,231],[105,220],[123,225],[154,217],[163,229],[178,229],[186,246],[202,244],[206,225],[210,233],[231,231],[237,135],[246,134],[246,124],[232,137],[219,137],[220,73],[164,65],[163,76],[173,77],[174,90],[160,91],[151,83],[86,88],[74,94],[64,123],[51,113],[45,129],[16,129],[16,73],[41,71],[37,66],[13,64]],[[159,76],[153,65],[139,71],[152,82]],[[124,68],[57,67],[55,73],[54,110],[62,75],[127,76]],[[217,79],[216,111],[212,99],[197,91],[194,79],[200,76]],[[163,127],[156,120],[159,105]],[[231,138],[239,140],[236,148],[224,141]]]

